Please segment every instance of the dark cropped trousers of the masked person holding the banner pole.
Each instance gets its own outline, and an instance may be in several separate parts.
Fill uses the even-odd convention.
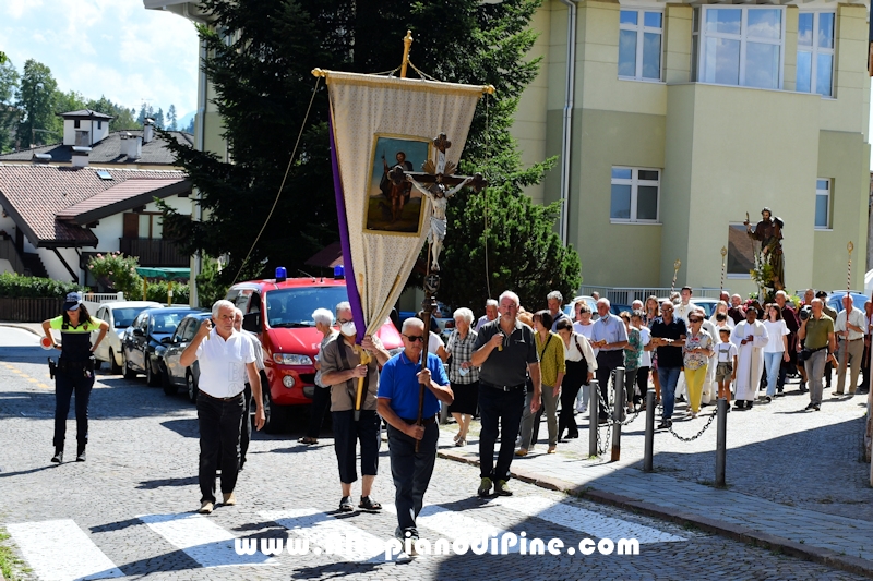
[[[356,460],[359,440],[361,474],[375,476],[379,472],[379,441],[382,438],[379,428],[382,419],[375,410],[361,410],[361,417],[357,422],[354,410],[331,412],[331,415],[334,420],[334,449],[336,463],[339,467],[339,482],[351,484],[358,480]]]

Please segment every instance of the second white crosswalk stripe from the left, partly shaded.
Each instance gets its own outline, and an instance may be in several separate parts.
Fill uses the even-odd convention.
[[[203,567],[278,565],[276,559],[260,552],[237,555],[236,536],[200,515],[142,515],[136,518]]]

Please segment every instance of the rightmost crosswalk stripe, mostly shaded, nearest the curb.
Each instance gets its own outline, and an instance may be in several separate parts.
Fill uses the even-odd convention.
[[[575,507],[567,503],[550,500],[541,496],[498,497],[491,504],[504,506],[528,517],[539,519],[584,532],[597,538],[636,538],[644,543],[674,543],[686,541],[651,526],[637,524],[612,517],[605,517],[593,510]]]

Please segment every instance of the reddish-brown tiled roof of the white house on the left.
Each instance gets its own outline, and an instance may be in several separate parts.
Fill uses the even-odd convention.
[[[82,204],[129,180],[134,183],[103,201],[111,205],[135,195],[166,192],[168,186],[186,179],[184,172],[178,170],[111,169],[103,170],[111,177],[105,180],[98,175],[99,171],[91,167],[0,164],[0,204],[35,246],[96,246],[97,238],[91,230],[58,215],[70,214],[64,210],[76,206],[82,210],[76,210],[76,215],[97,209]],[[150,182],[155,186],[152,190],[147,187]]]

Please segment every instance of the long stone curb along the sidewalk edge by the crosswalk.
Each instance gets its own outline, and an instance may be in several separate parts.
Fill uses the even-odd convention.
[[[449,450],[438,450],[436,456],[440,458],[445,458],[446,460],[453,460],[455,462],[479,465],[478,460],[466,458]],[[716,519],[702,517],[693,512],[662,507],[653,503],[635,500],[626,496],[598,491],[591,486],[578,486],[572,482],[560,479],[539,476],[525,470],[512,469],[511,474],[514,479],[528,484],[534,484],[540,488],[563,492],[578,498],[591,500],[593,503],[624,508],[635,513],[655,517],[661,520],[673,522],[675,524],[691,525],[702,531],[726,536],[733,541],[739,541],[752,546],[776,550],[790,557],[797,557],[812,562],[827,565],[828,567],[833,567],[835,569],[840,569],[842,571],[861,574],[873,579],[873,562],[860,557],[840,555],[839,553],[828,548],[821,548],[803,543],[797,543],[789,538],[755,531],[753,529],[749,529],[748,526],[722,522]]]

